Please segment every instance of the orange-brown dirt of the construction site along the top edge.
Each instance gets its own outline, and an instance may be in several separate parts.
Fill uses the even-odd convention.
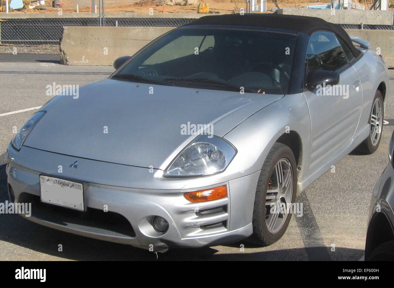
[[[208,3],[211,13],[233,13],[239,11],[239,8],[245,8],[245,0],[195,0],[197,4],[189,6],[157,6],[159,1],[152,0],[106,0],[105,12],[106,13],[122,13],[122,12],[136,12],[136,13],[149,13],[149,8],[153,8],[154,13],[197,13],[198,3]],[[258,0],[257,0],[258,1]],[[354,0],[353,0],[354,1]],[[370,0],[366,0],[370,3]],[[89,13],[89,6],[91,0],[60,0],[63,4],[63,13],[76,13],[76,4],[79,6],[79,13]],[[97,9],[99,9],[98,0],[96,0]],[[358,2],[357,0],[355,2]],[[57,9],[51,8],[52,1],[46,0],[46,10],[29,9],[22,11],[13,11],[11,13],[58,13]],[[288,8],[305,8],[309,4],[328,4],[329,0],[277,0],[279,7]],[[364,4],[364,0],[361,0]],[[236,9],[238,7],[238,9]],[[275,7],[273,1],[268,0],[267,11]],[[41,9],[40,6],[36,8]],[[94,9],[94,8],[93,8]]]

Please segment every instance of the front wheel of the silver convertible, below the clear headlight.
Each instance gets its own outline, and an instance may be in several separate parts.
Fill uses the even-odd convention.
[[[292,150],[282,143],[275,143],[257,183],[251,242],[268,246],[283,236],[296,198],[296,183],[297,166]]]

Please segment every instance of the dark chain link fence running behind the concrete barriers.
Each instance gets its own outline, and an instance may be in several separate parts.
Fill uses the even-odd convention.
[[[0,16],[1,17],[1,16]],[[195,18],[105,18],[106,26],[178,27]],[[361,29],[357,24],[340,24]],[[0,44],[59,44],[63,26],[99,26],[99,18],[7,18],[0,19]],[[363,25],[363,29],[393,30],[392,25]]]

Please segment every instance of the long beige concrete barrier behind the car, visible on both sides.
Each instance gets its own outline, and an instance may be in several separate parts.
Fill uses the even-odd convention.
[[[173,27],[65,27],[60,42],[65,65],[113,65],[124,55],[133,55],[150,41]],[[353,30],[346,32],[380,48],[383,59],[394,67],[393,30]],[[104,52],[108,52],[105,54]]]

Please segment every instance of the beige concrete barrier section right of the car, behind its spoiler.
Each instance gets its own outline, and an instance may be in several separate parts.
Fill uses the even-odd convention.
[[[393,30],[359,30],[346,29],[349,35],[360,37],[370,42],[370,48],[375,51],[380,48],[380,54],[389,68],[394,68],[394,31]]]

